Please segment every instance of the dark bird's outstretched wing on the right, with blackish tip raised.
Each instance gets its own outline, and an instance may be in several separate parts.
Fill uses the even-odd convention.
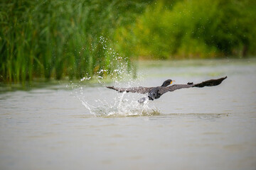
[[[204,87],[204,86],[218,86],[221,84],[221,82],[227,79],[227,77],[223,77],[220,79],[210,79],[208,81],[203,81],[199,84],[193,84],[193,83],[188,83],[188,84],[174,84],[172,86],[167,86],[166,88],[160,89],[159,93],[160,94],[165,94],[168,91],[175,91],[178,89],[184,89],[184,88],[191,88],[191,87]]]

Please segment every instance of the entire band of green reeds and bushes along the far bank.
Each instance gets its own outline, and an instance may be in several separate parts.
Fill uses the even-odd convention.
[[[138,58],[255,55],[255,8],[252,0],[4,0],[0,81],[107,75]]]

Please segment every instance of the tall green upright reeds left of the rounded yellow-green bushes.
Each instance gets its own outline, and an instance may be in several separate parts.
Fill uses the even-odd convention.
[[[110,61],[119,61],[100,37],[112,47],[115,28],[131,23],[144,6],[117,0],[1,1],[0,81],[80,79],[115,69]]]

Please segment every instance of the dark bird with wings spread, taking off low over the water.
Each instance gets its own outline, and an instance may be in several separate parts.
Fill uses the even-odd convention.
[[[221,84],[221,82],[227,79],[227,77],[223,77],[220,79],[210,79],[208,81],[203,81],[199,84],[193,84],[191,82],[188,82],[188,84],[174,84],[171,85],[174,80],[168,79],[164,81],[164,83],[161,86],[156,87],[129,87],[129,88],[119,88],[114,86],[107,86],[108,89],[114,89],[120,93],[126,91],[131,93],[139,93],[139,94],[147,94],[147,98],[151,101],[154,101],[154,99],[160,98],[163,94],[169,91],[175,91],[178,89],[184,89],[184,88],[191,88],[191,87],[204,87],[204,86],[218,86]],[[143,103],[146,101],[146,97],[139,99],[139,103]]]

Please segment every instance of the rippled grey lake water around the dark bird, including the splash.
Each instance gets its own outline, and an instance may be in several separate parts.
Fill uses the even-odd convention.
[[[58,84],[0,94],[0,169],[254,169],[256,61],[142,62],[118,86],[222,84],[140,106],[112,84]]]

